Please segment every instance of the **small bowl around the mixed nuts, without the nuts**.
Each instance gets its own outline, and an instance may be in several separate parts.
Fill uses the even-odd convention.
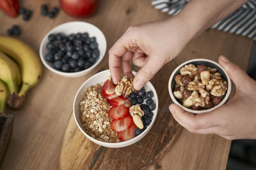
[[[214,106],[213,108],[209,109],[209,110],[191,110],[189,108],[186,108],[184,106],[182,106],[182,104],[179,103],[179,101],[177,101],[177,99],[173,96],[173,87],[175,85],[175,76],[177,74],[180,73],[180,68],[187,65],[187,64],[194,64],[195,66],[200,65],[200,64],[204,64],[207,67],[212,67],[212,68],[216,68],[218,73],[221,74],[221,77],[223,78],[223,80],[226,80],[228,83],[228,88],[227,88],[227,92],[225,94],[225,97],[223,98],[223,100],[221,101],[221,103],[219,103],[218,105]],[[229,96],[230,96],[230,92],[231,92],[231,81],[230,78],[227,74],[227,72],[223,69],[223,67],[220,66],[220,64],[218,64],[217,62],[214,62],[213,60],[208,60],[208,59],[193,59],[193,60],[188,60],[186,62],[183,62],[182,64],[180,64],[172,73],[172,75],[170,76],[170,80],[168,83],[168,90],[169,90],[169,94],[172,98],[172,101],[177,104],[178,106],[180,106],[183,110],[188,111],[190,113],[195,113],[195,114],[199,114],[199,113],[206,113],[212,110],[215,110],[216,108],[222,106],[223,104],[227,103]]]

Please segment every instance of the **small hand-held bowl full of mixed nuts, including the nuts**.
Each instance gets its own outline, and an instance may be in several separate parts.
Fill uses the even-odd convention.
[[[231,81],[217,62],[188,60],[170,76],[168,90],[173,103],[190,113],[206,113],[227,103]]]

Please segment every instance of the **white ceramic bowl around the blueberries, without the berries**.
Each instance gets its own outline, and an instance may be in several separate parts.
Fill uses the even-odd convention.
[[[46,44],[49,42],[48,40],[49,34],[61,33],[61,34],[68,35],[68,34],[77,33],[77,32],[81,32],[81,33],[88,32],[90,37],[94,36],[97,39],[97,43],[99,45],[99,51],[100,51],[99,59],[95,64],[93,64],[93,66],[89,67],[88,69],[84,69],[83,71],[78,71],[76,73],[65,73],[65,72],[54,69],[54,67],[52,66],[52,63],[45,60],[45,55],[48,53]],[[44,36],[44,39],[40,44],[39,53],[40,53],[40,58],[44,63],[45,67],[47,67],[52,72],[56,74],[60,74],[61,76],[66,76],[66,77],[79,77],[92,72],[93,68],[95,68],[103,59],[106,52],[106,48],[107,48],[106,38],[99,28],[87,22],[75,21],[75,22],[67,22],[67,23],[58,25],[57,27],[54,27],[54,29],[49,31]]]

